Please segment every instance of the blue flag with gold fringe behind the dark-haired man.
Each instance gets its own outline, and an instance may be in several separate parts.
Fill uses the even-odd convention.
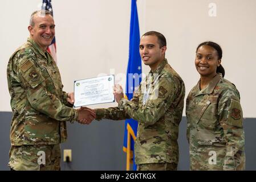
[[[130,39],[129,39],[129,60],[127,67],[126,77],[126,96],[128,100],[133,97],[133,92],[141,82],[141,57],[139,52],[140,45],[140,30],[139,30],[139,19],[137,14],[136,0],[132,0],[132,11],[131,11],[131,24],[130,24]],[[134,119],[127,119],[125,121],[124,129],[124,145],[123,150],[127,152],[130,158],[127,161],[127,170],[129,163],[133,163],[133,170],[136,170],[136,164],[134,162],[134,143],[137,135],[138,122]],[[128,136],[128,134],[130,136]],[[127,146],[127,143],[130,146]],[[131,151],[128,151],[131,148]],[[128,154],[129,152],[129,154]]]

